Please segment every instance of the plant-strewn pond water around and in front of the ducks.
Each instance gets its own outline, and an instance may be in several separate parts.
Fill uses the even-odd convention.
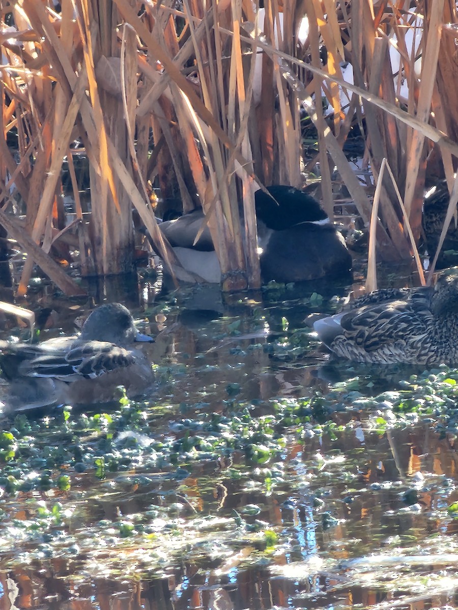
[[[1,421],[0,610],[458,606],[458,371],[329,363],[347,287],[107,290],[157,389]]]

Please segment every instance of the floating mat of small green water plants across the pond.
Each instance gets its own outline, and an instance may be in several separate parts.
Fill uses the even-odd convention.
[[[282,325],[288,331],[286,316]],[[283,339],[271,344],[275,362],[294,363],[310,350],[307,331]],[[234,350],[237,358],[249,351]],[[196,374],[219,370],[203,365]],[[4,420],[4,565],[71,557],[85,574],[96,567],[138,578],[186,562],[229,571],[237,557],[240,569],[274,570],[275,554],[302,559],[313,537],[327,545],[324,575],[339,569],[343,553],[371,553],[374,540],[387,556],[399,548],[413,554],[415,528],[456,520],[456,483],[413,453],[409,467],[422,476],[406,472],[402,439],[417,431],[437,434],[437,442],[457,436],[458,370],[410,375],[389,391],[379,381],[353,375],[327,391],[267,401],[238,400],[242,384],[230,382],[226,400],[207,401],[203,392],[195,404],[173,396],[155,404],[121,395],[110,412],[65,408]],[[380,523],[371,536],[369,513]],[[361,573],[347,570],[355,580]]]

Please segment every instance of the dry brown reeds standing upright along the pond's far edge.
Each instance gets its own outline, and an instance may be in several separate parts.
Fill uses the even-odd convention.
[[[335,166],[369,223],[371,189],[343,153],[357,123],[365,135],[363,162],[377,181],[387,160],[406,210],[385,174],[374,223],[379,253],[411,256],[405,226],[418,241],[425,179],[443,175],[450,191],[456,184],[455,3],[265,0],[264,7],[263,27],[256,30],[258,7],[251,0],[63,0],[61,8],[4,0],[0,224],[29,255],[20,293],[33,260],[64,292],[81,291],[47,256],[59,243],[79,251],[83,274],[129,270],[133,207],[167,264],[179,278],[191,279],[154,220],[155,181],[165,197],[180,197],[184,211],[203,207],[223,288],[257,287],[253,193],[257,185],[303,185],[300,102],[319,144],[305,169],[319,161],[327,210]],[[308,36],[301,41],[306,14]],[[394,80],[390,46],[399,52]],[[355,85],[343,82],[343,62],[351,62]],[[333,108],[330,118],[322,91]],[[349,98],[346,108],[341,91]],[[90,215],[75,171],[82,152],[89,159]],[[64,158],[76,210],[70,227],[64,224]],[[452,195],[448,221],[458,187]]]

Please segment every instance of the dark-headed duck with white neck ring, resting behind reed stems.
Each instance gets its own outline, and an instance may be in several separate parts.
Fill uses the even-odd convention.
[[[351,255],[318,201],[285,185],[272,185],[267,190],[271,197],[261,190],[255,193],[263,281],[301,282],[349,273]],[[159,226],[184,268],[205,281],[220,282],[208,227],[194,243],[203,220],[203,211],[194,210]]]

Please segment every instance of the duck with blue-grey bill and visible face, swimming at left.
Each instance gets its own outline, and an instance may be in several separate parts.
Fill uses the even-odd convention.
[[[154,373],[132,343],[154,339],[137,331],[131,312],[104,303],[85,320],[79,336],[35,345],[0,341],[1,376],[9,384],[4,411],[114,400],[117,386],[129,398],[153,386]]]

